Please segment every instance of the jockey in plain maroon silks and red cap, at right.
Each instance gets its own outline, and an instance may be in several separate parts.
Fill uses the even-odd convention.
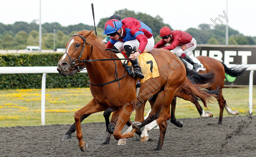
[[[192,54],[192,51],[197,46],[196,40],[189,33],[179,30],[171,31],[169,27],[165,26],[160,29],[160,37],[162,39],[155,44],[154,48],[160,48],[165,46],[166,43],[170,43],[171,45],[163,47],[163,49],[172,50],[172,53],[176,56],[181,57],[192,64],[193,70],[197,70],[197,68],[201,67],[201,65],[194,63],[194,61],[187,55]]]

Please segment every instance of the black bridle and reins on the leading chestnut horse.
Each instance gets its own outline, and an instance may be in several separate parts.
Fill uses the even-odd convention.
[[[78,59],[76,59],[76,60],[73,60],[73,59],[71,58],[71,56],[67,53],[67,49],[66,49],[66,52],[65,52],[65,53],[69,56],[70,65],[73,67],[73,68],[71,68],[72,70],[75,69],[75,70],[81,71],[82,69],[85,68],[85,65],[84,65],[84,66],[76,66],[76,65],[78,65],[79,63],[84,63],[84,64],[85,64],[86,62],[90,63],[90,62],[94,62],[94,61],[113,60],[114,63],[115,63],[115,67],[116,67],[116,61],[115,61],[115,60],[129,60],[129,58],[124,58],[124,59],[116,58],[116,59],[114,59],[114,58],[112,58],[112,57],[111,57],[112,59],[91,60],[91,59],[89,59],[89,58],[90,58],[90,56],[92,55],[93,45],[87,43],[87,42],[86,42],[86,38],[84,38],[83,36],[78,35],[78,34],[73,35],[72,38],[71,38],[71,40],[73,39],[74,36],[80,36],[80,37],[84,40],[84,44],[83,44],[82,50],[81,50],[81,52],[80,52],[80,55],[79,55]],[[83,50],[84,50],[85,43],[86,43],[87,45],[91,45],[91,54],[90,54],[90,56],[88,57],[87,60],[85,60],[85,59],[84,59],[84,60],[80,60],[80,58],[81,58],[81,56],[82,56],[82,53],[83,53]],[[110,49],[106,49],[106,50],[110,50]],[[76,62],[77,62],[77,63],[76,63]],[[116,68],[116,70],[115,70],[115,80],[109,81],[109,82],[104,83],[104,84],[91,84],[91,82],[90,82],[90,84],[93,85],[93,86],[105,86],[105,85],[107,85],[107,84],[112,84],[112,83],[118,81],[119,89],[121,89],[119,80],[121,80],[121,79],[123,79],[123,78],[125,77],[125,75],[126,75],[126,69],[127,69],[127,67],[125,67],[124,75],[123,75],[123,77],[121,77],[121,78],[118,78],[118,75],[117,75],[117,68]]]

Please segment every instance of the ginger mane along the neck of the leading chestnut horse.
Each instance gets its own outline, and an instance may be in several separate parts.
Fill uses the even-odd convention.
[[[89,31],[88,30],[79,31],[76,34],[85,37],[84,34],[86,32],[89,32]],[[101,36],[96,36],[95,31],[92,31],[92,33],[87,37],[87,39],[89,39],[91,41],[91,43],[93,43],[93,45],[96,46],[100,50],[101,53],[105,53],[108,56],[112,56],[113,54],[115,54],[112,51],[106,51],[105,50],[106,45],[105,45],[104,42],[102,42],[103,38]]]

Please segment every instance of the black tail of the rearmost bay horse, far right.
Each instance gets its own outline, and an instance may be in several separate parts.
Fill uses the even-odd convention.
[[[248,68],[245,65],[235,65],[231,68],[228,68],[224,63],[222,63],[222,65],[225,69],[225,73],[229,74],[232,77],[237,77],[241,75]]]

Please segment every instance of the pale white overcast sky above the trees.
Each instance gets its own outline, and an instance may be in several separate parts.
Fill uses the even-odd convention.
[[[218,17],[226,24],[226,19],[219,17],[224,16],[224,10],[229,27],[246,36],[256,36],[256,1],[253,0],[228,0],[228,10],[226,0],[41,0],[41,23],[58,22],[62,26],[84,23],[93,26],[91,3],[94,4],[96,26],[101,18],[109,17],[115,11],[128,9],[152,17],[159,15],[173,29],[185,31],[190,27],[198,28],[202,23],[214,24],[211,18]],[[0,0],[0,23],[30,23],[39,19],[39,4],[39,0]]]

